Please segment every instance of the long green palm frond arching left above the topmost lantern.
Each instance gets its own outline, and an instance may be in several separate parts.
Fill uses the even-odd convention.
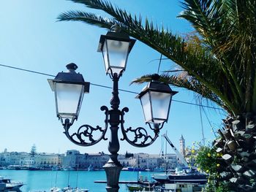
[[[159,53],[162,53],[162,55],[165,55],[181,66],[189,72],[192,77],[197,78],[197,80],[217,93],[223,101],[228,102],[229,97],[231,97],[230,95],[236,94],[234,91],[225,88],[219,89],[219,85],[215,82],[213,83],[213,79],[216,77],[215,74],[221,74],[221,68],[219,68],[217,59],[211,54],[211,50],[209,50],[208,47],[202,46],[200,41],[199,43],[186,41],[182,37],[173,35],[164,28],[159,30],[158,27],[154,27],[154,24],[147,19],[143,25],[141,17],[139,17],[139,19],[136,17],[132,18],[125,10],[122,11],[116,7],[114,8],[111,4],[103,3],[101,0],[80,0],[79,2],[86,4],[87,7],[102,9],[112,15],[113,18],[102,18],[93,14],[72,11],[60,15],[59,20],[80,20],[105,28],[110,28],[113,24],[118,24],[118,26],[130,36],[139,39],[141,42],[159,51]],[[215,72],[215,74],[209,72]],[[227,84],[232,83],[229,80],[225,80],[225,82]],[[239,99],[237,99],[237,102],[239,102]],[[235,107],[230,107],[230,109],[231,108],[233,110],[235,109]]]

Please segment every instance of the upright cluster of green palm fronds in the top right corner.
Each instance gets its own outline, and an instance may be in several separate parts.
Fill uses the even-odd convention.
[[[192,23],[219,59],[234,99],[244,111],[256,111],[256,1],[184,0],[182,5],[180,17]]]

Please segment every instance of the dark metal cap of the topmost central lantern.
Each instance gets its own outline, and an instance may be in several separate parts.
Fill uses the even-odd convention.
[[[128,34],[125,34],[122,32],[116,32],[116,31],[108,31],[108,33],[106,35],[100,36],[97,52],[102,52],[103,45],[104,45],[106,39],[121,41],[121,42],[129,42],[128,52],[130,52],[132,50],[132,47],[133,47],[133,45],[135,45],[135,42],[136,42],[136,39],[130,39]]]

